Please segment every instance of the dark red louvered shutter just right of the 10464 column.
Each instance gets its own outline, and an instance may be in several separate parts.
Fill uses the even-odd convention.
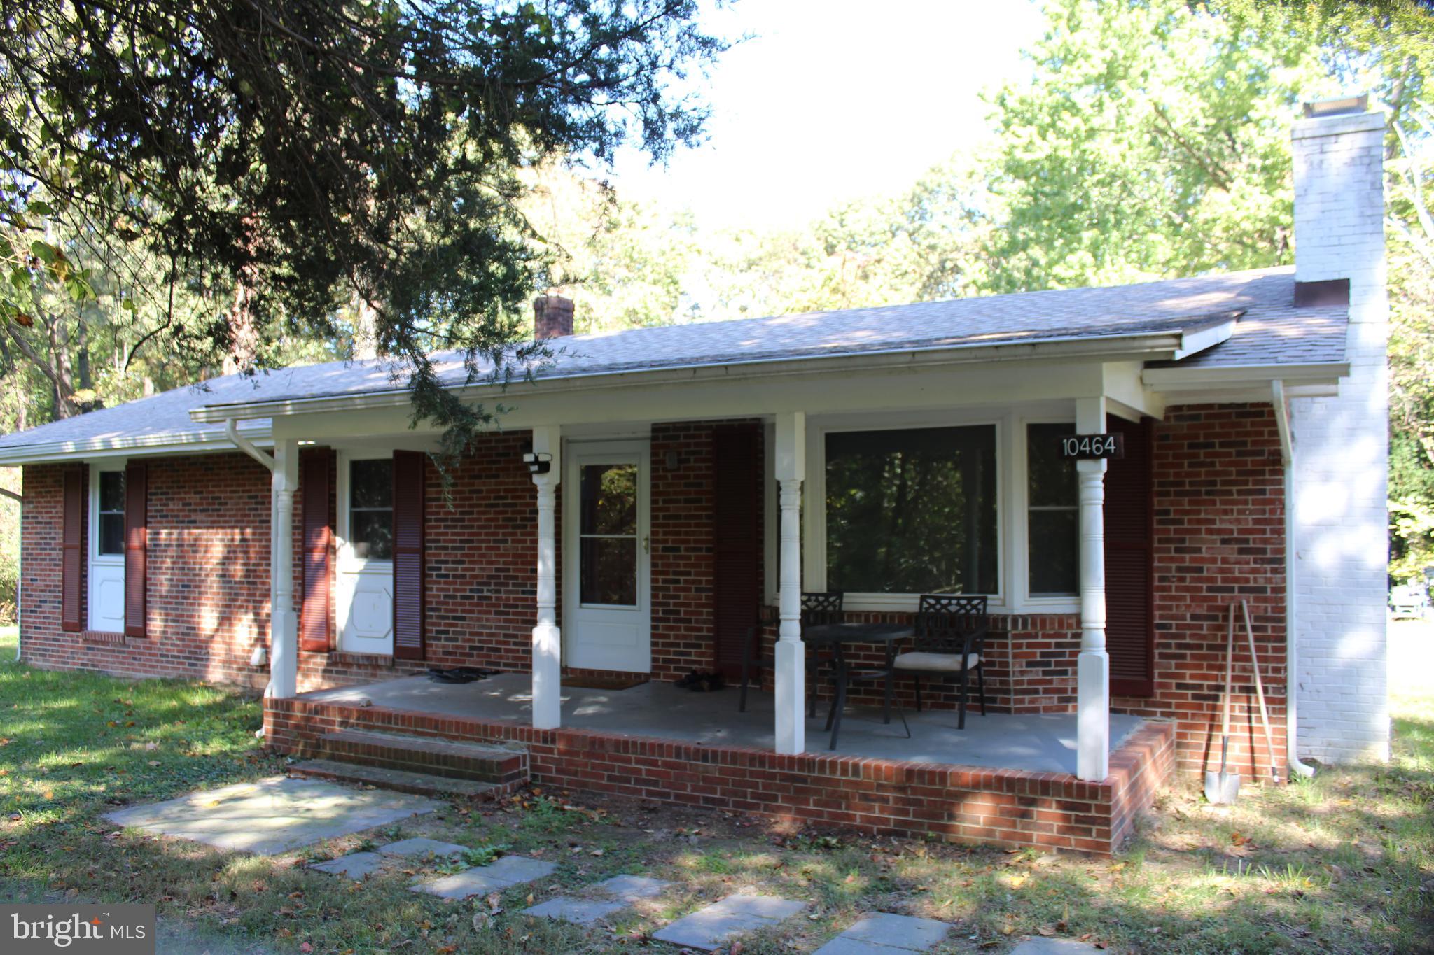
[[[1111,696],[1154,696],[1153,421],[1116,418],[1106,428],[1126,438],[1126,457],[1106,471],[1106,650]]]

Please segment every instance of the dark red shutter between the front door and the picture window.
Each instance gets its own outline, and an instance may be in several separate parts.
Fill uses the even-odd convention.
[[[761,586],[760,425],[713,432],[713,641],[717,670],[741,673],[741,641],[757,617]]]

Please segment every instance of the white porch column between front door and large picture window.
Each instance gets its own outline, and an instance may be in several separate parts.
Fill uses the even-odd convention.
[[[776,646],[777,752],[806,749],[806,647],[802,644],[802,481],[806,478],[806,415],[777,415],[776,475],[782,513],[780,626]]]

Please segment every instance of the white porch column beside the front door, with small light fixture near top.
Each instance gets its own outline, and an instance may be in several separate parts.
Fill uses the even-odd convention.
[[[554,510],[562,481],[562,430],[533,428],[533,454],[551,455],[538,487],[538,623],[533,627],[533,729],[562,723],[562,631],[558,629],[558,540]]]

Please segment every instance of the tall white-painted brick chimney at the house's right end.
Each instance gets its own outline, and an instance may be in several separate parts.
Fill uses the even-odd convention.
[[[1292,137],[1295,304],[1349,311],[1338,397],[1291,401],[1296,750],[1326,763],[1390,756],[1384,132],[1358,96]]]

